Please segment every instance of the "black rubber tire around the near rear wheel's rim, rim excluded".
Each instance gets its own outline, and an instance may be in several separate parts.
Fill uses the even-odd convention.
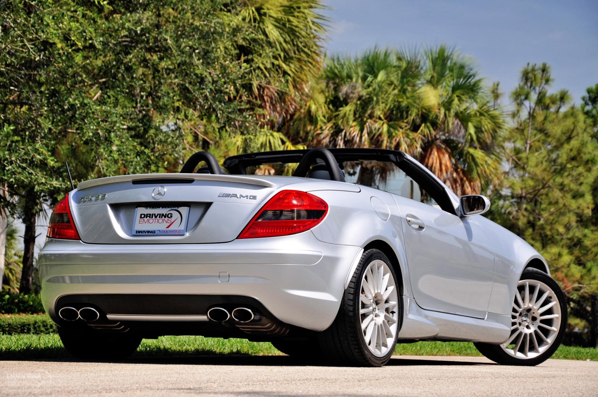
[[[361,279],[368,265],[380,259],[388,265],[390,273],[394,277],[395,285],[398,287],[395,271],[392,262],[378,249],[368,249],[361,256],[361,260],[353,273],[349,286],[344,291],[338,314],[332,325],[326,331],[318,332],[320,351],[328,361],[334,364],[350,365],[358,367],[382,367],[392,356],[396,346],[396,335],[401,328],[401,302],[397,301],[395,310],[398,310],[398,324],[395,340],[389,352],[385,356],[377,357],[370,352],[365,343],[361,331],[361,320],[359,315],[359,298],[361,294]],[[399,295],[400,296],[400,295]]]

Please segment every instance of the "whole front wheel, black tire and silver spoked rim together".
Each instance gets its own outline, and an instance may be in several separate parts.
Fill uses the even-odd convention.
[[[503,344],[475,343],[487,358],[505,365],[538,365],[558,349],[567,325],[565,294],[543,271],[527,268],[517,285],[511,335]]]

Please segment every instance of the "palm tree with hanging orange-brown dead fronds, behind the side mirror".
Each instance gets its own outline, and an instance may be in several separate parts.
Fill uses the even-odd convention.
[[[456,194],[480,193],[500,170],[494,145],[504,129],[504,116],[478,77],[471,59],[440,45],[423,50],[423,85],[437,103],[426,114],[434,131],[419,160]]]

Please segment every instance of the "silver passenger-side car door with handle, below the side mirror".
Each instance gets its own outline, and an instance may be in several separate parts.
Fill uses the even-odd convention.
[[[411,289],[436,312],[486,317],[495,272],[489,237],[475,219],[393,194],[401,213]],[[475,218],[474,215],[472,218]]]

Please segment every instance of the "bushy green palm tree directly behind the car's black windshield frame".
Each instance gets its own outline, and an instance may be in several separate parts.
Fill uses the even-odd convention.
[[[322,72],[326,106],[310,117],[314,145],[398,148],[414,152],[423,131],[413,130],[420,114],[420,71],[412,60],[374,49],[357,59],[332,57]]]

